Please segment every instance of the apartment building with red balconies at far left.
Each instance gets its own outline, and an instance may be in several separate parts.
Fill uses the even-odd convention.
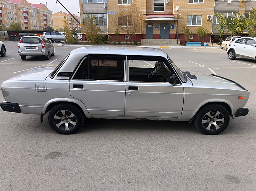
[[[23,30],[45,30],[53,27],[52,11],[44,4],[31,4],[26,0],[0,0],[0,24],[9,29],[18,22]]]

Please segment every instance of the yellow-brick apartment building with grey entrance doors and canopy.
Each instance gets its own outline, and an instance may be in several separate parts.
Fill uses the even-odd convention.
[[[129,6],[136,4],[144,15],[144,22],[137,29],[135,39],[178,38],[181,44],[185,44],[185,36],[181,32],[183,27],[187,26],[191,29],[192,41],[199,41],[196,30],[203,26],[209,31],[204,40],[209,42],[212,33],[218,33],[215,30],[218,20],[214,13],[221,12],[229,17],[233,12],[239,12],[248,16],[251,7],[256,8],[256,0],[79,0],[79,3],[81,18],[86,12],[94,14],[96,18],[102,14],[103,19],[97,20],[103,22],[96,25],[104,27],[105,34],[112,37],[115,36],[115,30],[118,28],[116,21],[120,10],[123,8],[128,10]],[[122,19],[123,23],[125,21],[123,27],[128,26],[128,17]],[[127,34],[122,30],[120,32],[121,40],[125,41]]]

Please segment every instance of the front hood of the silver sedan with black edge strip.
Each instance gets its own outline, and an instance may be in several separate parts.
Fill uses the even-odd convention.
[[[205,86],[207,88],[218,88],[218,89],[233,89],[233,90],[246,90],[240,84],[237,84],[234,81],[226,80],[220,76],[205,75],[199,73],[191,73],[195,75],[196,79],[190,78],[193,83],[193,86]]]

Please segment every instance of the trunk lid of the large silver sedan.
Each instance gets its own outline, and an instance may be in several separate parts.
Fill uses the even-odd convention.
[[[30,81],[30,80],[45,80],[46,77],[52,73],[56,67],[47,67],[47,68],[37,68],[34,70],[29,70],[28,72],[21,73],[18,76],[14,76],[7,81]]]

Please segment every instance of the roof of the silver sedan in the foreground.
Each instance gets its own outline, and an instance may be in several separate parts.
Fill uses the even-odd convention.
[[[114,45],[93,45],[74,49],[70,54],[118,54],[138,56],[162,56],[167,58],[167,53],[155,48],[141,46],[114,46]]]

